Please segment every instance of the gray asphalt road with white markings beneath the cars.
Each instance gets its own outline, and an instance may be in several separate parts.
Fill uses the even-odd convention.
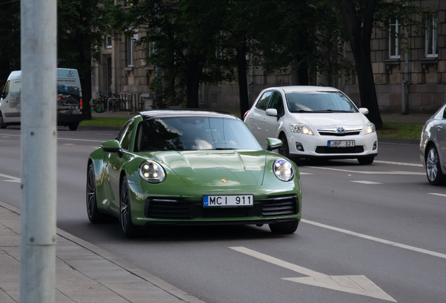
[[[301,163],[295,234],[263,227],[171,227],[123,237],[93,225],[86,159],[116,131],[58,131],[58,227],[208,303],[445,302],[446,187],[417,144],[379,144],[371,166]],[[0,201],[20,208],[20,129],[0,130]],[[361,285],[362,288],[358,288]]]

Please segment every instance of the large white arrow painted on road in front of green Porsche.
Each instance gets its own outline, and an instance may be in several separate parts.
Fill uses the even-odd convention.
[[[250,250],[249,248],[230,248],[240,253],[244,253],[245,255],[250,255],[251,257],[256,257],[257,259],[309,276],[302,278],[282,278],[283,280],[396,302],[393,297],[387,295],[386,292],[381,290],[381,288],[370,281],[366,276],[327,276],[326,274],[299,267],[296,264],[285,262],[269,255],[264,255],[255,250]]]

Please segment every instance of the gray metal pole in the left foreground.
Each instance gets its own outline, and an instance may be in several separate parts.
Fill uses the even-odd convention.
[[[57,1],[22,0],[20,302],[55,301]]]

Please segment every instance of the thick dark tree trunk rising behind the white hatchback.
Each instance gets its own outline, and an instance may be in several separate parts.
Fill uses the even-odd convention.
[[[364,15],[358,16],[353,0],[338,0],[344,18],[346,32],[358,74],[358,86],[361,107],[367,107],[367,118],[377,129],[383,127],[379,114],[377,92],[374,86],[370,41],[372,39],[373,15],[377,0],[366,0]],[[361,22],[362,20],[362,22]]]

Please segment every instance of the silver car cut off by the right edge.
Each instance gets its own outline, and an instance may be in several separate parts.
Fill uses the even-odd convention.
[[[424,123],[419,152],[429,183],[443,184],[446,175],[446,105]]]

